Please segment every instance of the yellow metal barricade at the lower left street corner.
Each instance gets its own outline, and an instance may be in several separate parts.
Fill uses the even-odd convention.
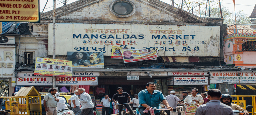
[[[0,97],[11,115],[42,115],[41,96]]]

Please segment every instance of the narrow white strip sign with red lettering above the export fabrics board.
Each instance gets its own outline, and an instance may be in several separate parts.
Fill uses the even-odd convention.
[[[207,72],[168,72],[168,76],[207,76]]]

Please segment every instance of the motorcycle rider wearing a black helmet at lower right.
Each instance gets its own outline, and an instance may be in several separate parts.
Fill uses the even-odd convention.
[[[222,94],[221,95],[221,99],[220,101],[228,106],[230,106],[233,110],[239,110],[242,111],[244,110],[243,108],[241,108],[239,105],[236,105],[232,102],[232,97],[229,94]],[[244,110],[244,114],[249,115],[249,112]]]

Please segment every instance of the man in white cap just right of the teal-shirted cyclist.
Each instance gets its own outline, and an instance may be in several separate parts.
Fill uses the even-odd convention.
[[[175,91],[171,91],[170,95],[167,95],[165,98],[167,100],[167,102],[169,103],[169,106],[173,108],[173,112],[176,112],[176,107],[177,107],[177,102],[181,102],[184,103],[183,101],[181,101],[176,95]],[[165,109],[166,106],[165,106]],[[165,111],[168,115],[170,115],[170,111]]]

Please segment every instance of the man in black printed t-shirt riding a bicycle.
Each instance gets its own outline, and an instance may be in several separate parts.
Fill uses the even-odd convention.
[[[124,104],[124,103],[131,102],[131,98],[130,98],[129,94],[126,93],[126,92],[123,92],[123,88],[122,87],[118,87],[117,88],[117,92],[118,93],[114,94],[114,96],[112,98],[114,103],[116,103],[115,100],[117,100],[119,104]],[[129,102],[128,102],[127,98],[129,99]],[[130,112],[130,115],[132,115],[133,111],[131,109],[130,104],[125,104],[124,106],[126,107],[126,109],[128,109],[128,111]],[[119,110],[118,114],[121,115],[121,112],[123,110],[123,105],[118,105],[118,110]]]

